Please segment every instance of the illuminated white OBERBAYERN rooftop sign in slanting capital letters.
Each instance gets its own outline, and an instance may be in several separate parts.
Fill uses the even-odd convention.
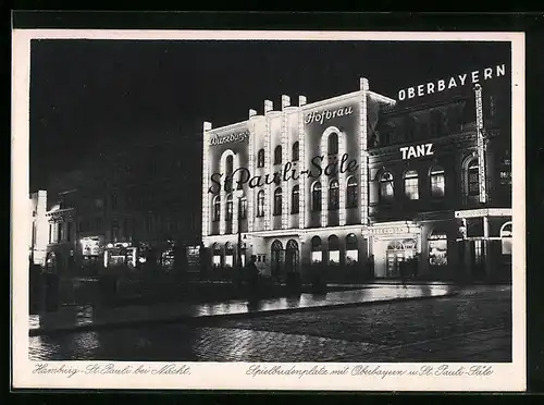
[[[481,74],[483,73],[483,74]],[[449,90],[452,88],[457,88],[458,86],[465,86],[466,84],[475,84],[480,81],[487,81],[493,77],[504,76],[506,74],[505,64],[498,64],[494,68],[485,68],[483,72],[472,71],[465,74],[459,74],[452,76],[447,79],[440,79],[436,82],[429,82],[425,84],[420,84],[416,87],[408,87],[398,90],[398,100],[403,101],[406,98],[412,99],[416,97],[422,97],[433,93],[441,93],[444,90]]]

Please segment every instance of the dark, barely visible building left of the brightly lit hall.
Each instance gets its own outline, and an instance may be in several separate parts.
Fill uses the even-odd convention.
[[[121,146],[101,145],[50,182],[48,260],[59,273],[146,261],[171,271],[175,256],[183,267],[185,249],[199,244],[200,194],[187,191],[200,189],[190,176],[200,144],[156,136]]]

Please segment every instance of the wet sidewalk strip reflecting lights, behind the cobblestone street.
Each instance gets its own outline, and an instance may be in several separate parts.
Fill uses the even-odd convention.
[[[30,316],[29,334],[137,327],[152,322],[189,322],[214,317],[250,317],[292,311],[359,306],[395,300],[455,295],[447,285],[387,285],[375,289],[331,292],[326,295],[301,294],[297,297],[245,299],[219,304],[157,304],[152,306],[100,307],[63,306],[58,312]]]

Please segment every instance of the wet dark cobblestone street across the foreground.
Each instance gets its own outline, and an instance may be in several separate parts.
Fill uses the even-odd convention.
[[[510,361],[510,289],[458,296],[33,336],[33,360]]]

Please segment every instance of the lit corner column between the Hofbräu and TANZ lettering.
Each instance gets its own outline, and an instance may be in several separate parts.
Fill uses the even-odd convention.
[[[368,124],[367,124],[367,91],[369,90],[369,81],[360,78],[361,97],[359,100],[359,191],[360,191],[360,219],[361,224],[368,225],[368,201],[369,201],[369,181],[368,181]]]

